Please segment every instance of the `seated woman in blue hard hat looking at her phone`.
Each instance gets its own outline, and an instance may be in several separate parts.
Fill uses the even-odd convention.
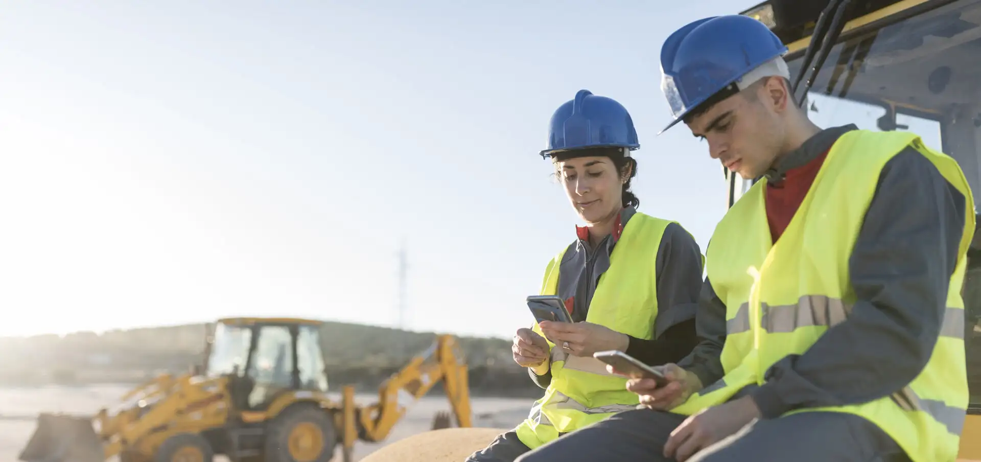
[[[680,225],[637,211],[630,191],[640,147],[630,114],[580,90],[552,115],[547,148],[555,175],[585,227],[545,268],[542,295],[565,300],[574,324],[542,322],[514,336],[514,360],[545,389],[521,425],[466,462],[512,462],[558,436],[635,409],[626,379],[593,357],[620,350],[656,366],[697,344],[702,257]],[[546,341],[547,338],[547,341]]]

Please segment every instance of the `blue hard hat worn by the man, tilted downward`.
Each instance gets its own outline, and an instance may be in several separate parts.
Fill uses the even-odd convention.
[[[674,118],[661,132],[719,90],[785,53],[780,38],[748,16],[705,18],[675,30],[661,47],[661,91]]]

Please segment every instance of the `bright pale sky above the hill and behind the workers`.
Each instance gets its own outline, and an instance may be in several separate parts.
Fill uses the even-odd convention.
[[[581,88],[634,118],[641,211],[704,251],[725,184],[687,128],[655,137],[658,54],[755,3],[6,4],[0,335],[393,326],[404,238],[409,329],[510,336],[575,237],[538,151]]]

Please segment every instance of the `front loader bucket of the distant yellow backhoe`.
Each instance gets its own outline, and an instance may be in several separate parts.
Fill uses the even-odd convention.
[[[42,413],[18,459],[24,462],[104,462],[102,441],[85,417]]]

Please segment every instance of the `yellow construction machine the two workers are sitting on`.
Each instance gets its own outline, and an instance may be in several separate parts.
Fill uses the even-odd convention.
[[[981,0],[771,0],[741,14],[770,27],[787,45],[797,97],[818,126],[914,131],[955,158],[975,196],[981,191]],[[652,46],[656,56],[658,45]],[[752,181],[725,172],[731,207]],[[970,398],[966,419],[950,428],[960,433],[958,462],[981,462],[979,241],[976,234],[963,291]],[[503,430],[412,436],[365,462],[458,462],[460,454],[486,446]],[[459,443],[429,449],[426,441],[439,438]]]

